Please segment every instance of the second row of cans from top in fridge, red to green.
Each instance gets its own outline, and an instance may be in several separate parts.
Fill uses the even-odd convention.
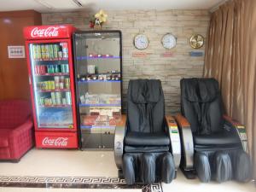
[[[41,75],[45,73],[69,73],[69,67],[68,64],[35,66],[35,74]]]

